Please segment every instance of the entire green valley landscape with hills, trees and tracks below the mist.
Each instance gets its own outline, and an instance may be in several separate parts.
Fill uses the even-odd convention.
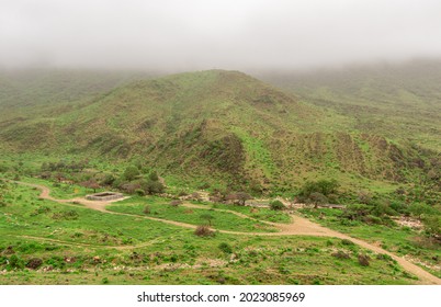
[[[438,67],[1,72],[0,283],[439,284]]]

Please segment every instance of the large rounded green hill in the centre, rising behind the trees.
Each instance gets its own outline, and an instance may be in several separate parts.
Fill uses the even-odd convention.
[[[369,128],[365,113],[351,115],[349,106],[337,102],[323,107],[313,94],[306,101],[306,87],[296,99],[224,70],[108,90],[121,82],[115,80],[100,88],[105,93],[75,96],[61,105],[56,96],[27,109],[2,101],[8,110],[8,117],[0,117],[2,150],[142,160],[169,182],[252,192],[289,192],[323,178],[338,179],[351,190],[420,182],[440,163],[437,146],[429,150],[395,137],[388,126]],[[10,90],[4,84],[3,95],[4,88]],[[44,112],[32,112],[39,104]],[[432,116],[428,125],[437,128]],[[396,122],[391,125],[399,129]],[[437,143],[436,134],[427,139]]]

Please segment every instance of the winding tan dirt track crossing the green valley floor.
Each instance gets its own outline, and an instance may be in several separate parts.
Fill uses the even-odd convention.
[[[57,200],[50,196],[50,190],[47,186],[44,185],[39,185],[39,184],[32,184],[32,183],[26,183],[26,182],[16,182],[23,185],[27,185],[27,186],[32,186],[32,187],[36,187],[38,190],[42,191],[42,193],[39,194],[41,198],[45,198],[45,200],[49,200],[49,201],[54,201],[60,204],[65,204],[65,205],[72,205],[72,203],[79,203],[84,205],[86,207],[90,208],[90,209],[94,209],[94,211],[99,211],[102,213],[106,213],[106,214],[114,214],[114,215],[125,215],[125,216],[133,216],[133,217],[137,217],[137,218],[146,218],[146,219],[151,219],[151,220],[157,220],[157,221],[161,221],[161,223],[166,223],[166,224],[170,224],[170,225],[174,225],[174,226],[179,226],[179,227],[185,227],[185,228],[191,228],[191,229],[195,229],[196,226],[195,225],[191,225],[191,224],[186,224],[186,223],[180,223],[180,221],[174,221],[174,220],[168,220],[168,219],[162,219],[162,218],[156,218],[156,217],[150,217],[150,216],[139,216],[139,215],[134,215],[134,214],[125,214],[125,213],[116,213],[116,212],[111,212],[108,211],[105,208],[106,205],[109,205],[111,202],[97,202],[97,201],[88,201],[84,198],[72,198],[72,200]],[[193,204],[184,204],[184,206],[186,207],[193,207],[193,208],[203,208],[203,209],[208,209],[204,206],[199,206],[199,205],[193,205]],[[249,219],[253,219],[253,220],[258,220],[255,218],[251,218],[249,216],[246,216],[244,214],[234,212],[234,211],[228,211],[228,209],[218,209],[215,208],[215,211],[219,211],[219,212],[227,212],[227,213],[231,213],[235,214],[237,216],[240,216],[242,218],[249,218]],[[316,236],[316,237],[332,237],[332,238],[340,238],[340,239],[348,239],[351,240],[352,242],[365,248],[365,249],[370,249],[376,253],[384,253],[389,255],[391,258],[393,258],[394,260],[396,260],[398,262],[399,265],[403,266],[403,269],[405,269],[407,272],[416,275],[419,277],[419,282],[421,284],[436,284],[436,285],[441,285],[441,280],[438,278],[437,276],[430,274],[429,272],[422,270],[421,268],[419,268],[418,265],[405,260],[404,258],[400,258],[392,252],[388,252],[380,247],[376,247],[374,245],[368,243],[366,241],[360,240],[360,239],[355,239],[352,238],[348,235],[331,230],[329,228],[323,227],[316,223],[313,223],[306,218],[299,217],[297,215],[291,215],[292,218],[292,223],[291,224],[278,224],[278,223],[270,223],[270,221],[263,221],[263,220],[259,220],[261,223],[271,225],[276,227],[280,231],[279,232],[240,232],[240,231],[230,231],[230,230],[220,230],[220,229],[213,229],[213,230],[217,230],[222,234],[230,234],[230,235],[244,235],[244,236]],[[32,237],[29,237],[32,238]],[[37,238],[35,238],[37,239]],[[38,238],[38,239],[45,239],[45,238]],[[46,240],[50,240],[56,242],[57,240],[52,240],[52,239],[46,239]],[[63,241],[59,241],[60,243]],[[63,242],[65,243],[65,242]],[[114,249],[133,249],[133,248],[140,248],[144,246],[149,246],[154,243],[152,241],[146,242],[146,243],[142,243],[138,246],[125,246],[125,247],[109,247],[109,248],[114,248]],[[86,243],[76,243],[77,246],[84,246],[84,247],[92,247],[91,245],[86,245]],[[100,247],[101,248],[101,247]],[[105,247],[104,247],[105,248]]]

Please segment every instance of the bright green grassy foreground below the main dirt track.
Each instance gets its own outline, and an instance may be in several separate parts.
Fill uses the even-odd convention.
[[[0,284],[416,282],[393,261],[376,259],[369,251],[357,246],[344,246],[338,239],[219,232],[214,237],[200,238],[191,229],[142,217],[38,201],[37,194],[38,191],[27,186],[8,185],[8,205],[0,207]],[[158,211],[159,206],[169,207],[161,204],[160,198],[132,200],[143,201],[143,205],[149,204],[155,209],[158,206]],[[131,207],[131,202],[125,201],[121,206]],[[74,218],[70,218],[72,215],[68,215],[68,218],[53,217],[54,213],[63,212],[75,212],[77,215]],[[210,213],[214,215],[214,212]],[[172,215],[167,211],[163,214]],[[236,218],[230,214],[219,217],[230,224]],[[216,220],[217,216],[213,221]],[[230,252],[220,249],[222,243],[227,243]],[[116,250],[116,247],[125,249]],[[336,259],[332,255],[336,250],[350,253],[350,259]],[[355,255],[359,252],[371,254],[370,266],[358,263]],[[42,260],[37,270],[23,266],[34,258]],[[11,260],[10,264],[5,260]]]

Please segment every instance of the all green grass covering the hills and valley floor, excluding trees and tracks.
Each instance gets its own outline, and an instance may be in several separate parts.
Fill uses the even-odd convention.
[[[358,191],[386,194],[400,185],[425,190],[423,181],[437,194],[437,179],[428,175],[437,178],[441,135],[434,115],[440,113],[440,79],[433,67],[410,67],[402,75],[370,71],[368,78],[349,73],[349,80],[336,78],[336,72],[325,80],[291,83],[286,78],[286,88],[301,99],[236,71],[181,73],[118,88],[117,76],[39,78],[44,73],[38,72],[31,82],[27,72],[0,76],[13,84],[0,84],[0,177],[48,185],[57,198],[83,196],[90,191],[63,183],[53,186],[30,175],[37,174],[45,161],[87,158],[88,169],[72,177],[117,175],[140,161],[166,178],[174,192],[208,186],[292,196],[305,181],[335,178],[349,200]],[[219,229],[271,230],[210,206],[176,208],[147,197],[109,207],[139,215],[124,216],[38,200],[38,191],[21,185],[8,184],[1,193],[2,284],[416,282],[393,261],[339,240],[226,234],[199,238],[191,229],[143,215],[148,205],[154,217],[199,225],[207,223],[201,216],[208,213]],[[225,208],[289,223],[283,213]],[[440,276],[439,246],[421,240],[421,234],[347,223],[336,212],[305,213],[330,228],[425,262]],[[228,243],[231,253],[220,250],[222,243]],[[333,257],[339,250],[350,258]],[[370,254],[370,265],[359,265],[357,253]],[[42,259],[42,268],[25,269],[35,257]]]

